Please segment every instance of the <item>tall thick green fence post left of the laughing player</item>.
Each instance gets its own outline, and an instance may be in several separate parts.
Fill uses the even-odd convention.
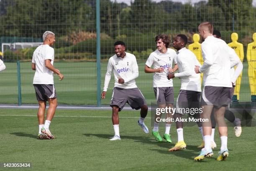
[[[96,32],[97,32],[97,107],[101,106],[100,89],[100,0],[96,0]]]

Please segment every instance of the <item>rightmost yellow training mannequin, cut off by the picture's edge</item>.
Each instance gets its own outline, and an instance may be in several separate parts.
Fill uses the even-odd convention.
[[[256,33],[253,42],[247,46],[248,77],[251,89],[251,101],[256,102]]]

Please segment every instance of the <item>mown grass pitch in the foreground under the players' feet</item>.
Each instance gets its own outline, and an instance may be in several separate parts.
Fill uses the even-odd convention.
[[[174,125],[173,143],[157,143],[137,125],[138,111],[120,112],[121,140],[112,142],[108,140],[113,136],[110,111],[57,110],[50,125],[56,138],[38,140],[36,111],[0,110],[0,163],[30,162],[29,170],[46,171],[252,171],[256,167],[254,127],[243,128],[240,138],[235,137],[233,127],[228,128],[230,156],[221,162],[215,161],[220,148],[220,138],[215,133],[218,150],[214,150],[213,158],[198,163],[193,161],[202,142],[197,127],[184,128],[186,150],[168,152],[177,142]],[[151,130],[150,119],[145,123]]]

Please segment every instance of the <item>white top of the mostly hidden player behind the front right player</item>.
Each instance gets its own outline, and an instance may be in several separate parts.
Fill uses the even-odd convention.
[[[228,46],[229,49],[229,59],[231,62],[231,70],[230,70],[230,75],[231,75],[231,82],[234,83],[234,85],[236,85],[236,80],[239,77],[239,75],[241,74],[241,72],[243,71],[243,64],[240,61],[239,57],[237,56],[235,50],[233,48],[230,48]],[[236,69],[235,69],[236,66]]]

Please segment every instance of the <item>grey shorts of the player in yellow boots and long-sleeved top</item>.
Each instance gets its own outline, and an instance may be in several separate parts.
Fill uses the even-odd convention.
[[[179,90],[179,96],[176,102],[177,113],[182,115],[195,115],[196,113],[200,113],[200,96],[201,92],[184,89]]]

